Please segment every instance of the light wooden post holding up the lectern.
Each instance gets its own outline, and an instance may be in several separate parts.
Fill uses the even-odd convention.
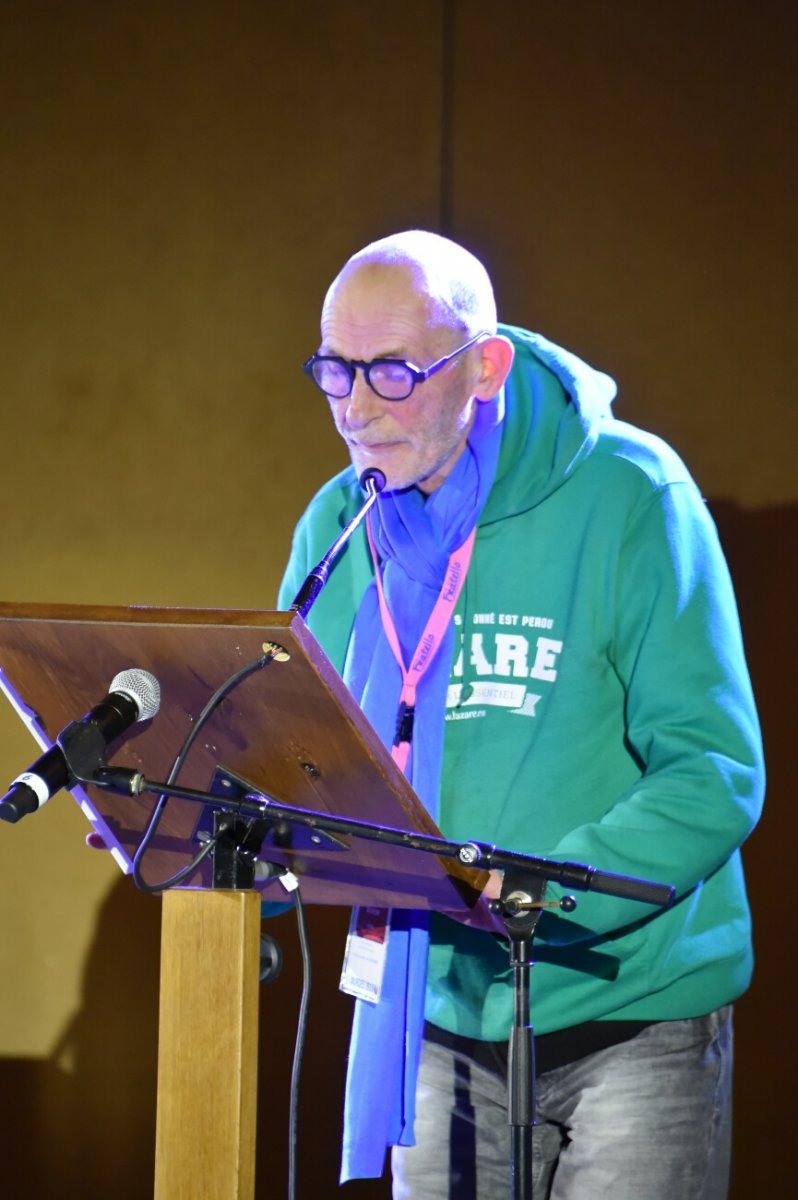
[[[156,1200],[254,1195],[260,899],[163,896]]]

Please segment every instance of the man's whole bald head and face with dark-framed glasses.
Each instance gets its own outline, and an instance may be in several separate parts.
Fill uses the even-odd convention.
[[[502,389],[512,344],[496,332],[482,264],[414,230],[372,242],[343,266],[324,300],[319,356],[337,360],[337,378],[349,383],[328,398],[358,474],[379,467],[389,487],[428,493],[462,454],[476,406]],[[391,365],[409,367],[416,383],[389,398],[374,385],[376,365],[383,377]]]

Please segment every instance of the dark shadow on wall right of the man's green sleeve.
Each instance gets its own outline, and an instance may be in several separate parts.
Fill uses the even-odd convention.
[[[756,970],[736,1012],[734,1158],[731,1200],[776,1195],[792,1178],[788,1139],[774,1136],[794,1094],[796,976],[786,959],[792,941],[791,894],[798,809],[791,778],[793,706],[788,691],[798,662],[794,563],[798,505],[749,512],[710,502],[734,580],[745,650],[762,722],[768,791],[764,815],[743,858],[754,912]]]

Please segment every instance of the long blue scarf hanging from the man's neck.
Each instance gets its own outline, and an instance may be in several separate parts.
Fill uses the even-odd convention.
[[[416,488],[384,492],[372,509],[372,533],[388,607],[410,655],[440,592],[450,554],[472,532],[492,487],[502,440],[503,397],[478,403],[466,450],[443,485],[426,498]],[[434,818],[443,761],[446,689],[455,649],[449,626],[416,696],[407,776]],[[355,617],[343,678],[390,746],[402,686],[372,581]],[[379,1002],[355,1001],[344,1108],[341,1182],[383,1174],[388,1146],[414,1145],[415,1086],[421,1054],[427,972],[425,912],[391,913]]]

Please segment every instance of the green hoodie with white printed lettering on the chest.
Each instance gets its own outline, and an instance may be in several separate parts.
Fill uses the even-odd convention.
[[[738,847],[762,766],[728,572],[677,455],[612,418],[612,382],[538,335],[502,331],[516,359],[455,617],[438,823],[677,889],[667,911],[580,894],[574,916],[541,918],[538,1033],[696,1016],[751,972]],[[360,502],[352,468],[316,496],[281,604]],[[338,670],[371,576],[358,538],[310,614]],[[505,1038],[506,948],[443,917],[431,932],[427,1018]]]

